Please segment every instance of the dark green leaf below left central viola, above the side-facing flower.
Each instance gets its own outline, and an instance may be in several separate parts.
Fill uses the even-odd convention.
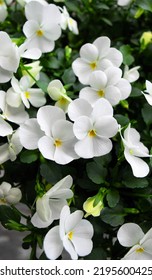
[[[42,163],[40,165],[40,174],[46,179],[48,183],[51,183],[53,185],[62,179],[60,167],[54,162]]]

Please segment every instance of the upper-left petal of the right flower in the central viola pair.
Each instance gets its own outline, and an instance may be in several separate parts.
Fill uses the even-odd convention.
[[[69,104],[68,115],[72,121],[80,116],[90,116],[92,112],[91,105],[84,99],[77,98]]]

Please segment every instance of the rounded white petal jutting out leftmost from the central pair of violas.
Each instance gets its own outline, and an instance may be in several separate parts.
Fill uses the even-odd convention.
[[[38,148],[38,141],[44,135],[36,119],[29,119],[19,128],[19,137],[22,145],[28,150]]]

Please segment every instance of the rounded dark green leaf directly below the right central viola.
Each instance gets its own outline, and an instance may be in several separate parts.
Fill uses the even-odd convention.
[[[107,170],[103,166],[97,165],[95,162],[89,162],[86,165],[88,177],[95,184],[104,183]]]

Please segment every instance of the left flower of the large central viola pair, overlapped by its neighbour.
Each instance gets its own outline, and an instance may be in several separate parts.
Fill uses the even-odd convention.
[[[67,164],[78,158],[74,151],[76,138],[73,124],[65,119],[62,109],[49,105],[41,107],[37,113],[37,121],[45,132],[45,136],[38,141],[38,148],[44,158],[58,164]]]

